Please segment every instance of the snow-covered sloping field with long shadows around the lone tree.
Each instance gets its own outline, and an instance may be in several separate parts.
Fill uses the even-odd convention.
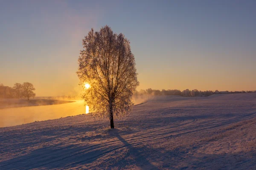
[[[41,106],[38,106],[41,107]],[[256,94],[160,96],[122,120],[0,128],[0,170],[256,169]]]

